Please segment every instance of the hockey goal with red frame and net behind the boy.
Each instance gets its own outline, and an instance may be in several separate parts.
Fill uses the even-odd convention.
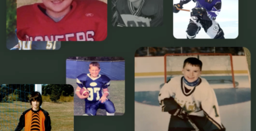
[[[183,62],[188,57],[196,57],[202,61],[201,77],[210,84],[230,84],[237,87],[235,82],[232,54],[166,54],[165,55],[165,82],[174,76],[182,75]]]

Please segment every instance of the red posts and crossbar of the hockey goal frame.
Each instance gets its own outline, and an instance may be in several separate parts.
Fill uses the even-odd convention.
[[[181,57],[180,58],[180,60],[182,60],[182,65],[181,65],[181,62],[179,62],[180,63],[180,69],[182,69],[183,68],[183,61],[185,60],[185,58],[188,58],[188,57],[196,57],[196,58],[199,58],[200,59],[200,57],[202,57],[202,56],[227,56],[227,57],[229,57],[229,60],[230,60],[230,71],[224,71],[224,70],[222,70],[222,71],[215,71],[215,74],[218,74],[218,73],[230,73],[231,75],[230,76],[232,76],[232,83],[233,83],[233,87],[235,88],[236,87],[236,84],[235,84],[235,77],[234,77],[234,70],[233,70],[233,60],[232,60],[232,54],[227,54],[227,53],[189,53],[189,54],[165,54],[165,56],[164,56],[164,68],[165,68],[165,83],[166,83],[166,81],[167,81],[167,76],[168,76],[168,72],[169,73],[173,73],[173,74],[171,74],[171,75],[176,75],[176,74],[181,74],[181,70],[180,71],[168,71],[168,66],[167,66],[167,60],[168,60],[168,57]],[[183,58],[182,58],[183,57]],[[219,57],[219,58],[221,58],[221,57]],[[218,59],[218,57],[217,57],[217,59]],[[176,60],[178,61],[178,59],[176,58]],[[201,60],[202,61],[202,60]],[[203,68],[204,68],[204,62],[202,62],[203,63]],[[218,63],[218,62],[217,62]],[[204,72],[204,70],[202,69],[202,74],[203,74],[203,72]]]

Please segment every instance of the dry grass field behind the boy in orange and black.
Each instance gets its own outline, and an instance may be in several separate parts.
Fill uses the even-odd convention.
[[[74,130],[73,107],[73,102],[43,102],[42,108],[50,115],[52,130]],[[0,102],[1,130],[15,130],[21,113],[28,108],[31,108],[29,102]]]

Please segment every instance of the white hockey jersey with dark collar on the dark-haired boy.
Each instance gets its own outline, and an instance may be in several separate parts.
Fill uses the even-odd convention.
[[[196,87],[189,87],[183,82],[183,76],[173,77],[163,85],[158,101],[161,103],[163,99],[173,97],[189,115],[206,116],[218,129],[222,129],[224,127],[221,124],[215,91],[207,80],[201,77],[199,79],[201,82]]]

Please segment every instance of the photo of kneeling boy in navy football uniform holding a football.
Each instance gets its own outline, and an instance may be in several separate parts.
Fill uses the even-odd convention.
[[[69,57],[66,83],[75,87],[74,116],[124,114],[122,57]]]

